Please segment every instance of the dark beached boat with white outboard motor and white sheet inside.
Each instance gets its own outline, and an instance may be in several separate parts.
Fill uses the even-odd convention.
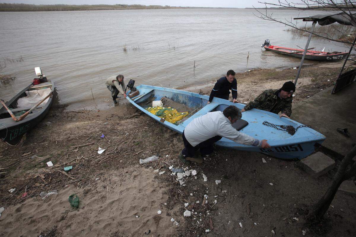
[[[53,81],[48,80],[38,85],[31,83],[5,103],[12,116],[7,108],[0,104],[0,141],[10,145],[18,144],[22,136],[46,116],[54,93]],[[40,103],[41,101],[43,102]],[[36,107],[37,104],[39,105]]]

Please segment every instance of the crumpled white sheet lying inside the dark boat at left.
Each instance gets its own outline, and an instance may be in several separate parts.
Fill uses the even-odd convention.
[[[42,90],[25,91],[26,96],[17,100],[17,108],[32,108],[42,99],[44,99],[49,93],[51,93],[51,88],[45,88]],[[44,106],[49,97],[45,99],[38,107]]]

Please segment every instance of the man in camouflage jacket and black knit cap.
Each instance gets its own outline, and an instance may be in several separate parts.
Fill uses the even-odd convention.
[[[287,81],[279,90],[263,91],[255,100],[246,104],[241,112],[250,109],[263,109],[275,114],[282,112],[279,118],[289,118],[292,114],[293,92],[295,92],[295,85],[292,81]]]

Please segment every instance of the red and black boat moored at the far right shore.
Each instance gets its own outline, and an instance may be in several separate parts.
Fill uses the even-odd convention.
[[[269,51],[273,51],[279,54],[283,54],[286,56],[293,56],[297,58],[302,58],[303,56],[303,49],[293,49],[293,48],[286,48],[277,45],[265,45],[263,48]],[[329,61],[329,62],[337,62],[346,57],[348,53],[342,52],[322,52],[322,51],[313,51],[308,50],[305,53],[305,59],[314,60],[314,61]]]

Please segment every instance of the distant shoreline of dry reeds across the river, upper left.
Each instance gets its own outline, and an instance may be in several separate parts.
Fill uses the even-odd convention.
[[[227,7],[183,7],[183,6],[160,6],[160,5],[35,5],[23,3],[0,3],[0,12],[19,11],[98,11],[98,10],[150,10],[150,9],[224,9]],[[237,9],[236,7],[228,7]]]

